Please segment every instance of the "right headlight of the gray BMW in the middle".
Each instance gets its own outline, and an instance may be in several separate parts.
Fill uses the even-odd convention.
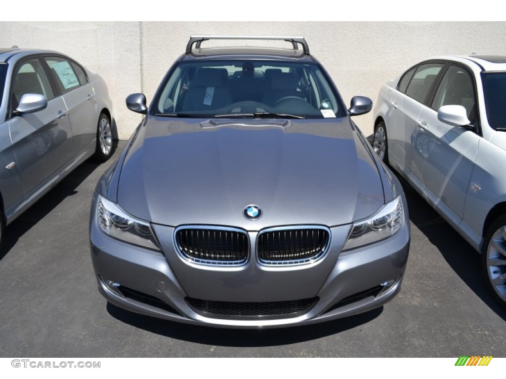
[[[374,216],[353,223],[343,251],[385,240],[401,228],[402,220],[402,200],[399,196],[385,204]]]

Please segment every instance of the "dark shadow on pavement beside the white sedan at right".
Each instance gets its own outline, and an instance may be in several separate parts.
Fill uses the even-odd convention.
[[[409,209],[409,219],[440,251],[451,269],[499,317],[504,312],[488,294],[481,276],[481,256],[400,175]]]

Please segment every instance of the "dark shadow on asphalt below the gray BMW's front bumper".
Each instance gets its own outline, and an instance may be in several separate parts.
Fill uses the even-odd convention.
[[[265,347],[311,341],[341,333],[375,319],[383,312],[383,306],[337,320],[277,329],[226,329],[195,326],[133,313],[111,303],[107,303],[107,311],[121,322],[177,340],[227,347]]]

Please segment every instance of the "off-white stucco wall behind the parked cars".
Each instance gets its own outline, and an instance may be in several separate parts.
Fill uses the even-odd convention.
[[[504,55],[505,28],[505,22],[1,22],[0,46],[57,50],[100,74],[118,136],[127,139],[141,116],[126,109],[125,97],[144,92],[150,102],[191,34],[302,35],[349,103],[355,94],[375,101],[386,80],[431,56]],[[372,133],[372,113],[355,121]]]

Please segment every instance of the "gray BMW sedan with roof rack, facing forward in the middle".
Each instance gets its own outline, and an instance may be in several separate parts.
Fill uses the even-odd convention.
[[[203,48],[277,39],[278,48]],[[206,42],[209,43],[209,42]],[[379,307],[409,250],[406,200],[303,37],[192,36],[99,181],[91,254],[108,302],[216,327]]]

